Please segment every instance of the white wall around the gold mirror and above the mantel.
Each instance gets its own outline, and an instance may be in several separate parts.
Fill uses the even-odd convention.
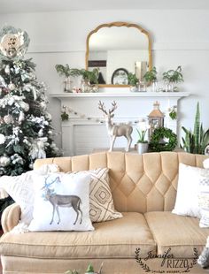
[[[69,64],[84,67],[85,42],[89,31],[97,25],[117,20],[139,24],[150,32],[153,65],[157,66],[160,73],[182,65],[185,81],[180,87],[192,95],[180,103],[181,123],[193,127],[196,103],[199,101],[201,120],[205,128],[209,127],[208,10],[0,13],[0,27],[7,23],[27,30],[31,38],[27,57],[34,58],[36,74],[48,84],[49,94],[62,90],[61,78],[54,66]],[[57,132],[60,132],[59,107],[56,99],[50,100],[50,111]],[[59,135],[57,142],[60,146]]]

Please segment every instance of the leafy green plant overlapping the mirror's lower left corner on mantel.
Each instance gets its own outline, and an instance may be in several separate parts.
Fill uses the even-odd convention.
[[[98,90],[98,75],[99,69],[94,68],[93,71],[88,71],[85,69],[80,70],[80,74],[82,76],[82,91],[90,92]]]

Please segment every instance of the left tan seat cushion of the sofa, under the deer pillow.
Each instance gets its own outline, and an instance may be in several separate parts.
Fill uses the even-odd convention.
[[[134,258],[156,252],[156,244],[145,218],[140,213],[97,223],[92,232],[5,233],[0,239],[0,254],[33,258]]]

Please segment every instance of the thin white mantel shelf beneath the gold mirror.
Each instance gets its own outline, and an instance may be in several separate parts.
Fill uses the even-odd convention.
[[[188,92],[119,92],[119,93],[107,93],[107,92],[97,92],[97,93],[55,93],[50,94],[52,98],[58,98],[60,100],[64,98],[89,98],[89,97],[152,97],[152,98],[182,98],[189,96]]]

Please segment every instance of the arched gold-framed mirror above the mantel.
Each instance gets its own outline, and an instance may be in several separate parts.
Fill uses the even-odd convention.
[[[128,72],[143,80],[152,67],[150,34],[136,24],[100,25],[89,33],[86,47],[86,69],[99,68],[100,87],[128,87]]]

